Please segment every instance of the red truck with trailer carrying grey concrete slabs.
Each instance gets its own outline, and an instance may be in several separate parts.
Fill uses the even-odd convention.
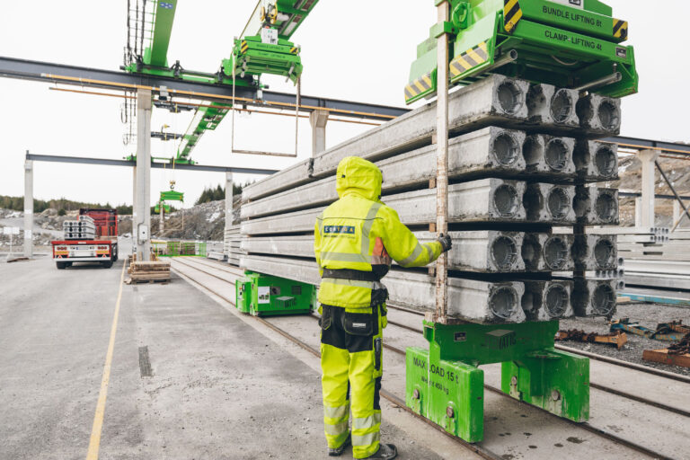
[[[90,218],[89,218],[90,217]],[[74,227],[72,226],[74,222]],[[83,227],[75,230],[77,226]],[[118,260],[118,211],[116,209],[79,209],[79,220],[63,226],[62,240],[51,241],[53,261],[58,269],[75,262],[100,262],[110,269]],[[85,235],[85,237],[84,237]]]

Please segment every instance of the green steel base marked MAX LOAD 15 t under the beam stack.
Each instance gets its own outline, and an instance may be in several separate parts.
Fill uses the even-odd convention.
[[[589,419],[589,359],[553,349],[558,322],[424,322],[429,349],[406,353],[405,403],[459,438],[484,435],[482,364],[501,364],[500,389],[574,421]]]

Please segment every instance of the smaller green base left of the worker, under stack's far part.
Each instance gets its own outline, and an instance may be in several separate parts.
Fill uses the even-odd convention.
[[[235,283],[235,306],[254,316],[310,314],[316,305],[311,284],[245,271]]]

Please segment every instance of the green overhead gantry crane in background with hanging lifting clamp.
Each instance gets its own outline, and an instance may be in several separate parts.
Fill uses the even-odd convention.
[[[128,6],[131,3],[133,0]],[[230,57],[222,60],[217,72],[206,73],[184,69],[180,61],[172,66],[168,62],[177,0],[137,0],[128,14],[128,45],[123,68],[131,73],[254,87],[261,97],[261,90],[266,88],[261,84],[261,75],[282,75],[293,83],[302,75],[300,49],[289,39],[317,3],[318,0],[260,0],[241,38],[234,39]],[[206,131],[216,129],[231,110],[233,104],[226,102],[199,107],[172,163],[193,164],[190,154],[199,139]]]

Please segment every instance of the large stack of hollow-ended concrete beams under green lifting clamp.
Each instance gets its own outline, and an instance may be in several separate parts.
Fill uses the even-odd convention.
[[[448,214],[453,317],[478,323],[607,315],[615,281],[582,272],[616,268],[620,103],[492,75],[449,97]],[[436,238],[436,103],[430,102],[243,190],[240,266],[318,284],[314,221],[338,199],[335,170],[357,155],[384,174],[383,201],[420,241]],[[555,232],[555,229],[560,231]],[[573,231],[575,229],[575,231]],[[389,302],[432,310],[432,270],[394,265]]]

